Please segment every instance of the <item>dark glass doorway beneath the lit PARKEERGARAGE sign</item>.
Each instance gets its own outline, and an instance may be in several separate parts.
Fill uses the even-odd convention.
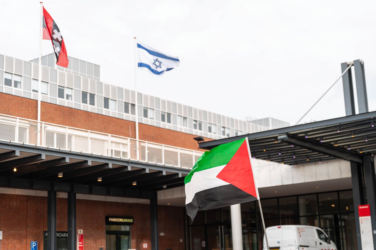
[[[130,226],[106,225],[106,249],[128,250],[130,248]]]

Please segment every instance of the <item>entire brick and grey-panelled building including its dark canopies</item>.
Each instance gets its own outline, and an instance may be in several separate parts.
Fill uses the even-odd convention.
[[[229,207],[199,212],[190,224],[183,178],[203,151],[242,135],[267,226],[314,225],[338,250],[361,249],[357,205],[374,202],[376,152],[376,113],[364,102],[365,81],[358,89],[361,61],[351,62],[359,114],[350,72],[346,117],[288,127],[143,93],[135,103],[132,90],[100,80],[99,65],[69,60],[55,68],[52,55],[42,57],[39,90],[37,60],[0,55],[2,250],[29,249],[31,241],[39,249],[232,249]],[[243,248],[261,249],[257,203],[241,211]]]

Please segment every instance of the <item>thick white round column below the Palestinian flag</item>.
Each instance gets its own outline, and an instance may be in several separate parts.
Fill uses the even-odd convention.
[[[240,204],[231,205],[230,211],[231,211],[232,249],[243,250],[243,229],[241,227]]]

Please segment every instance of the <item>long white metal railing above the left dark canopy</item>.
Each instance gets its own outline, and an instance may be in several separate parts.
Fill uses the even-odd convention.
[[[36,120],[6,114],[0,114],[0,140],[137,160],[137,141],[133,138],[48,122],[38,123]],[[203,154],[201,151],[144,140],[138,140],[138,143],[139,161],[169,167],[192,169],[194,163]]]

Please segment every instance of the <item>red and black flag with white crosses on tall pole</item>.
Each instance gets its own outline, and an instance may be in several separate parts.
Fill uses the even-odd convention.
[[[60,33],[59,27],[52,19],[50,14],[43,7],[43,39],[52,41],[53,50],[56,56],[56,64],[62,67],[68,67],[67,49],[64,39]]]

